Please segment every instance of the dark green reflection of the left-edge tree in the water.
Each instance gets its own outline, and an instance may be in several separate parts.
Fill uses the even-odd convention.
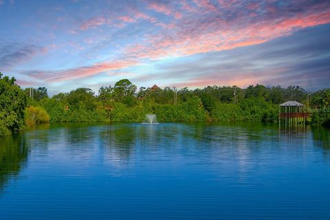
[[[0,189],[14,175],[18,175],[28,159],[28,147],[23,135],[0,137]]]

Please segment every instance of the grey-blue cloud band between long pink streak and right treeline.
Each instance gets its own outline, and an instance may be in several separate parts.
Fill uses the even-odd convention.
[[[157,85],[171,79],[175,87],[261,83],[316,90],[330,84],[330,39],[322,37],[329,31],[330,25],[320,25],[259,45],[157,61],[145,76]]]

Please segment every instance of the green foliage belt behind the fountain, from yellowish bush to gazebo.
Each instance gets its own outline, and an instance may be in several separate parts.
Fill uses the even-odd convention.
[[[98,96],[87,88],[43,98],[38,103],[51,122],[142,122],[146,113],[155,113],[160,122],[195,121],[276,121],[278,104],[307,99],[300,87],[206,87],[175,91],[166,87],[141,87],[120,80],[113,87],[101,87]],[[177,97],[175,98],[175,93]]]

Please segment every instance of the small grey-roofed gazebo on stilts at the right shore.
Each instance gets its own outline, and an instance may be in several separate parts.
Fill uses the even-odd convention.
[[[279,106],[278,120],[285,123],[305,122],[309,113],[304,112],[304,105],[296,101],[287,101]]]

